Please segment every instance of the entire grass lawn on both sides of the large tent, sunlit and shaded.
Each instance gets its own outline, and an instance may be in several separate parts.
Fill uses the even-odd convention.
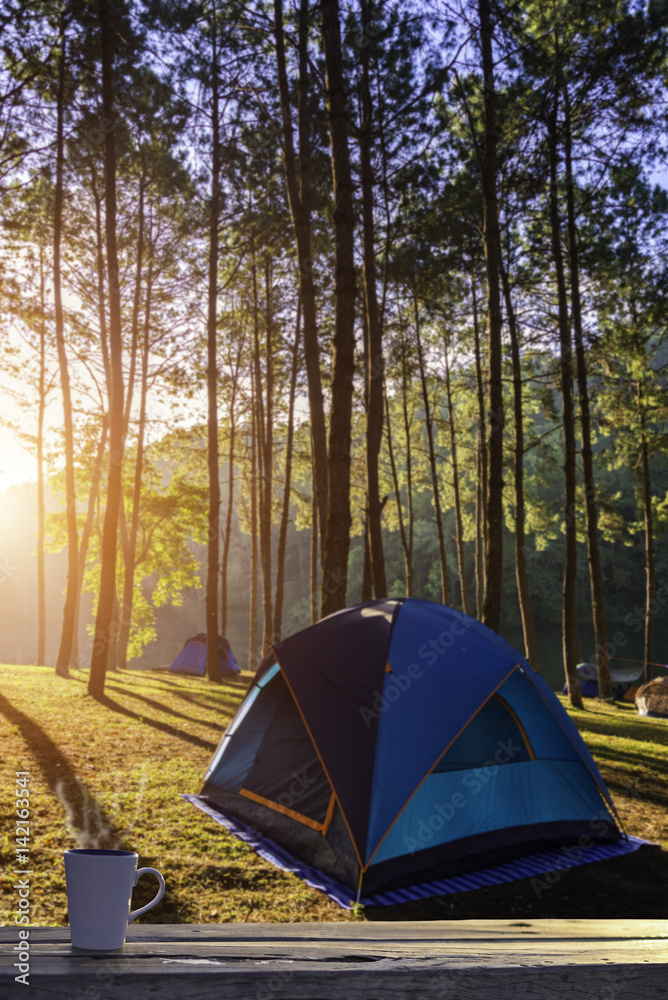
[[[46,667],[0,666],[2,867],[18,868],[15,773],[28,771],[33,925],[67,923],[62,852],[76,846],[136,850],[140,865],[164,873],[166,895],[147,923],[353,919],[180,797],[199,791],[247,679],[218,686],[113,673],[100,703],[86,694],[84,671],[63,680]],[[571,715],[626,832],[660,848],[570,869],[545,890],[525,880],[364,916],[668,917],[668,720],[640,719],[633,706],[587,704]],[[142,879],[135,906],[154,886]],[[0,922],[13,924],[11,877],[2,880],[0,900]]]

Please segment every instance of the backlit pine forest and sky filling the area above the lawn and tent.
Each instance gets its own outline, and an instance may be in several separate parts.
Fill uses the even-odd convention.
[[[667,26],[7,0],[2,420],[34,482],[0,497],[0,659],[99,696],[192,632],[253,669],[410,595],[574,704],[583,658],[603,694],[661,673]]]

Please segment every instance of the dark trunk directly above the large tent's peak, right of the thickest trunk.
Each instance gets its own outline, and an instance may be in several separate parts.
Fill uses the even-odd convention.
[[[367,34],[371,23],[373,0],[360,0],[362,33]],[[362,127],[360,130],[360,167],[362,187],[362,242],[364,259],[364,300],[366,308],[366,477],[367,477],[367,537],[370,572],[374,597],[387,596],[381,501],[378,482],[378,456],[383,438],[383,328],[378,310],[376,282],[376,249],[373,205],[373,167],[371,137],[373,105],[369,85],[370,46],[362,48]]]

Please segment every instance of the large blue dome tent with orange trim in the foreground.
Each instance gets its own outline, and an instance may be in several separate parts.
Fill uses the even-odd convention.
[[[569,845],[586,861],[640,844],[530,664],[409,598],[277,643],[186,798],[344,906],[523,878],[540,852],[533,872],[550,851],[565,867]]]

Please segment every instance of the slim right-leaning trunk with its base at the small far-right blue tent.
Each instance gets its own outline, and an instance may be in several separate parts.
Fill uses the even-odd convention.
[[[580,260],[578,233],[575,224],[575,199],[573,191],[573,167],[571,153],[571,123],[568,89],[564,85],[564,158],[566,164],[566,211],[568,216],[568,264],[571,279],[571,314],[573,336],[575,338],[575,359],[577,364],[578,396],[580,400],[580,433],[582,441],[582,471],[584,474],[585,524],[587,530],[587,555],[589,562],[589,583],[591,589],[591,609],[594,620],[595,660],[598,671],[598,691],[601,698],[612,701],[614,692],[610,679],[610,659],[608,656],[608,626],[605,620],[605,597],[603,593],[603,572],[598,545],[598,508],[594,482],[594,462],[591,450],[591,418],[589,413],[589,386],[587,384],[587,360],[582,334],[582,306],[580,302]]]

